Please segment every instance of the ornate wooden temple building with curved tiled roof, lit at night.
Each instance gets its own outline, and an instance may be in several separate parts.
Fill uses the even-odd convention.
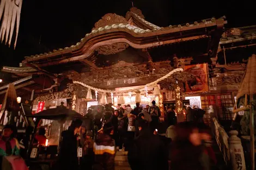
[[[135,7],[125,17],[106,14],[76,45],[26,56],[18,68],[4,66],[0,104],[13,83],[22,101],[34,100],[34,113],[39,102],[45,109],[64,102],[86,114],[91,105],[121,101],[134,106],[138,97],[143,106],[156,100],[164,111],[175,105],[178,83],[184,105],[206,111],[212,105],[219,118],[231,119],[247,59],[256,53],[256,26],[226,29],[224,16],[202,19],[159,27]],[[134,91],[176,68],[184,72]]]

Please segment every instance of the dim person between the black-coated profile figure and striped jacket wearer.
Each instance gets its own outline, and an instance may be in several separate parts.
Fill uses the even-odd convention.
[[[82,169],[92,170],[93,168],[93,160],[94,160],[94,153],[93,153],[93,131],[87,130],[86,139],[84,140],[83,144],[83,160],[82,160]]]

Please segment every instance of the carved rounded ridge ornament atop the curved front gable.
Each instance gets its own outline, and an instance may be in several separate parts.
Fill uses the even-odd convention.
[[[94,28],[92,30],[99,29],[100,27],[111,26],[112,24],[120,24],[120,23],[127,24],[127,21],[123,16],[108,13],[94,24]]]

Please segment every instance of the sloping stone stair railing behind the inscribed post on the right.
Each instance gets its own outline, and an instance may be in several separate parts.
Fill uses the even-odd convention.
[[[224,161],[226,165],[229,165],[230,153],[229,153],[228,135],[225,132],[225,130],[221,127],[221,125],[218,123],[215,117],[212,118],[211,128],[212,128],[212,132],[214,133],[218,147],[220,148],[223,154]]]

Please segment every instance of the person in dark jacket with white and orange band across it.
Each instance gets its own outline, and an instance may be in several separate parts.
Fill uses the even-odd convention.
[[[97,135],[93,145],[95,155],[94,170],[113,170],[115,156],[115,142],[111,138],[114,133],[114,127],[111,122],[103,125],[103,133]]]

